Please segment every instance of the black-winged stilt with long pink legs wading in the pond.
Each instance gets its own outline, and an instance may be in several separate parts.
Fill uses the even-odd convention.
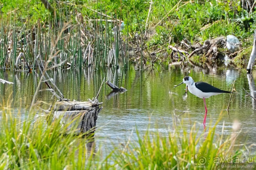
[[[177,86],[181,85],[182,83],[187,84],[187,88],[190,93],[194,94],[195,96],[201,99],[204,99],[205,116],[204,116],[203,125],[205,125],[206,123],[206,115],[207,115],[207,107],[206,107],[205,99],[217,94],[232,93],[229,91],[220,90],[219,88],[213,87],[212,85],[206,82],[194,82],[194,80],[190,76],[184,77],[183,82],[181,82]],[[174,88],[177,86],[174,86]]]

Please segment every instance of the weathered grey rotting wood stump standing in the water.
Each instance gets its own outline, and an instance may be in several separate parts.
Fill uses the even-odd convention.
[[[101,103],[96,103],[93,105],[88,101],[57,101],[53,121],[60,118],[67,134],[72,131],[75,135],[94,132],[98,113],[102,109],[99,107]]]

